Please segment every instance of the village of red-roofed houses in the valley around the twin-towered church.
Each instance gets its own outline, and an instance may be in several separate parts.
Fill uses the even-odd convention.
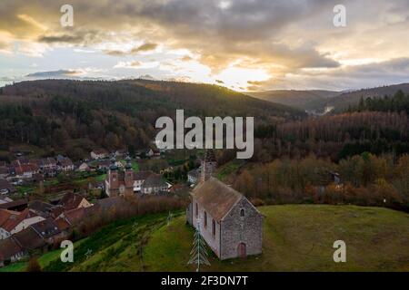
[[[164,151],[135,155],[98,149],[89,160],[74,162],[62,155],[28,159],[18,152],[9,164],[0,163],[0,266],[58,247],[85,220],[126,208],[124,197],[177,198],[199,179],[197,167],[187,177],[177,173],[183,180],[176,180],[180,169],[168,165]]]

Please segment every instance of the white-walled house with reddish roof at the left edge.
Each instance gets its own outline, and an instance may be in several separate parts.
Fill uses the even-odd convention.
[[[45,218],[37,215],[33,210],[25,208],[21,213],[10,215],[0,226],[0,238],[10,237]]]

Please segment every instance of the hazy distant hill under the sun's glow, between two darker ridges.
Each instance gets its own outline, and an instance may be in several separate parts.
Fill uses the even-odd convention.
[[[264,92],[247,92],[248,95],[254,98],[268,102],[277,102],[287,106],[292,106],[301,110],[314,110],[314,107],[309,107],[310,102],[324,102],[341,92],[333,91],[294,91],[294,90],[274,90]]]

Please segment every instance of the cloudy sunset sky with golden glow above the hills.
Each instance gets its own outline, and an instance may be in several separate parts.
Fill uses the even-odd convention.
[[[409,82],[408,36],[408,0],[1,0],[0,86],[142,77],[352,90]]]

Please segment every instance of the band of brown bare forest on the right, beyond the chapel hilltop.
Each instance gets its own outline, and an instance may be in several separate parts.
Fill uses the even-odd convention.
[[[409,152],[409,119],[405,112],[342,113],[261,125],[254,136],[254,160],[314,153],[337,161],[364,151],[398,156]]]

